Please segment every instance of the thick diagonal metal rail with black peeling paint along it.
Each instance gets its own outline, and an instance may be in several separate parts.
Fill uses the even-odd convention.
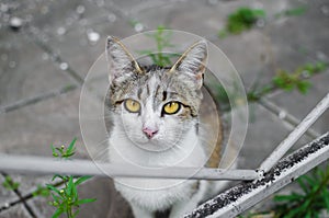
[[[329,133],[282,159],[257,181],[238,184],[200,205],[185,218],[236,217],[329,159]]]

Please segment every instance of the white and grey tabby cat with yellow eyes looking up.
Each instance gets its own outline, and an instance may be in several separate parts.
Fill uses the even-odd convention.
[[[105,53],[110,80],[105,101],[110,161],[131,161],[141,167],[204,167],[208,153],[201,140],[198,116],[206,41],[193,44],[171,67],[140,65],[112,36],[107,37]],[[220,140],[216,148],[220,148],[219,144]],[[209,162],[218,167],[220,150],[215,152]],[[224,183],[114,179],[115,188],[131,204],[136,218],[152,218],[157,211],[169,208],[170,218],[182,217],[222,190]]]

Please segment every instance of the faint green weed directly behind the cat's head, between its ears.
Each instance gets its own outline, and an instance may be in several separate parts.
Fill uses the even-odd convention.
[[[152,38],[156,42],[156,48],[149,50],[140,50],[139,54],[146,55],[151,58],[154,65],[160,67],[171,66],[172,62],[170,58],[179,56],[179,54],[163,53],[164,48],[174,47],[174,45],[170,43],[171,35],[172,33],[170,31],[168,31],[164,26],[159,25],[155,33],[146,34],[146,36]]]

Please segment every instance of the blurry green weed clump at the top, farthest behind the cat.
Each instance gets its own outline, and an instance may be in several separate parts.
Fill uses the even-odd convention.
[[[219,31],[218,36],[240,34],[250,30],[259,19],[265,18],[265,12],[260,9],[239,8],[227,18],[225,30]]]

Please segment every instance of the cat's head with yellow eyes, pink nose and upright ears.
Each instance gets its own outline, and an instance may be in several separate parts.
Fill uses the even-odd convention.
[[[140,66],[116,38],[106,43],[109,108],[122,137],[160,151],[197,131],[205,41],[193,44],[172,67]]]

